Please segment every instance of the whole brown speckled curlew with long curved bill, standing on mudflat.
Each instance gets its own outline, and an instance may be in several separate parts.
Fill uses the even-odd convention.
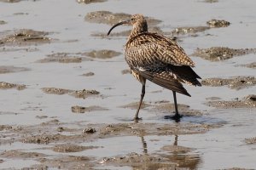
[[[134,119],[140,119],[140,111],[146,80],[154,82],[163,88],[172,90],[175,115],[168,116],[179,121],[182,115],[177,111],[176,93],[191,96],[182,83],[201,86],[201,79],[191,67],[195,63],[185,54],[183,48],[172,39],[158,33],[148,32],[147,20],[142,14],[134,14],[130,20],[120,21],[112,26],[108,35],[116,26],[130,24],[131,34],[125,44],[125,60],[131,68],[131,74],[143,84],[141,99]]]

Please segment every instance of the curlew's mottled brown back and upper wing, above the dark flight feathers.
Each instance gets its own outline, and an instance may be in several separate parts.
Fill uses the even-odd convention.
[[[129,50],[132,51],[132,55],[129,55]],[[166,64],[195,66],[195,63],[176,42],[151,32],[140,33],[126,43],[125,58],[138,56],[143,58],[138,61],[138,65],[143,64],[141,61],[145,59],[154,58]]]

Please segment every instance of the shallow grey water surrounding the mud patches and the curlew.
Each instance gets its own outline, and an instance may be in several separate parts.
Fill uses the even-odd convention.
[[[247,1],[218,1],[218,3],[205,3],[204,1],[112,1],[104,3],[83,4],[76,1],[21,1],[20,3],[3,3],[0,1],[1,20],[7,24],[0,25],[0,37],[9,32],[14,33],[20,29],[49,32],[47,37],[52,42],[30,46],[0,44],[0,66],[13,65],[25,67],[28,71],[0,74],[0,82],[25,84],[24,90],[0,89],[0,125],[13,127],[42,126],[40,123],[57,119],[65,127],[78,128],[71,134],[81,133],[90,124],[130,123],[136,110],[120,106],[137,102],[140,97],[141,85],[130,74],[122,75],[121,71],[128,69],[123,55],[110,59],[86,59],[81,63],[38,63],[39,59],[46,58],[48,54],[55,53],[87,53],[91,50],[112,49],[122,52],[126,37],[93,37],[92,33],[108,32],[110,26],[94,24],[84,21],[87,13],[107,10],[113,13],[136,14],[142,13],[154,19],[162,20],[158,25],[163,31],[171,32],[178,26],[207,26],[212,19],[228,20],[231,25],[224,28],[212,28],[198,33],[197,36],[181,36],[179,44],[187,54],[193,54],[196,48],[211,48],[224,46],[229,48],[255,48],[256,39],[256,2]],[[123,26],[114,29],[119,32],[128,30]],[[247,54],[219,62],[211,62],[199,57],[191,56],[196,63],[195,71],[202,77],[234,77],[256,76],[255,69],[240,67],[255,62],[255,54]],[[92,77],[83,77],[84,73],[94,72]],[[69,94],[44,94],[41,88],[65,88],[72,90],[96,89],[100,96],[90,96],[78,99]],[[188,98],[177,95],[179,104],[189,105],[191,109],[203,112],[202,116],[184,116],[178,126],[186,123],[195,125],[219,124],[220,127],[209,128],[207,133],[178,134],[177,145],[192,148],[184,155],[198,156],[195,167],[188,169],[223,169],[232,167],[256,168],[255,144],[246,144],[244,139],[256,136],[256,109],[215,109],[204,103],[209,97],[218,97],[224,100],[241,99],[248,94],[255,94],[255,86],[241,90],[228,87],[189,87]],[[172,92],[147,82],[146,103],[160,100],[172,101]],[[73,105],[85,107],[91,105],[101,106],[108,111],[90,111],[76,114],[71,111]],[[163,117],[172,113],[157,112],[144,109],[140,111],[143,121],[140,123],[170,123]],[[37,116],[47,116],[39,119]],[[59,125],[53,126],[53,129]],[[33,135],[39,133],[37,130]],[[51,133],[49,129],[48,133]],[[67,133],[67,132],[63,132]],[[69,133],[69,132],[68,132]],[[22,135],[20,135],[22,136]],[[62,154],[53,150],[44,149],[52,147],[50,144],[21,143],[19,133],[0,131],[0,167],[22,168],[40,164],[35,158],[6,157],[6,150],[21,150],[24,152],[44,153],[50,157],[60,157]],[[9,139],[14,138],[14,142]],[[17,139],[17,140],[16,140]],[[165,145],[175,142],[175,135],[117,135],[91,141],[75,142],[80,145],[100,146],[93,150],[84,150],[74,153],[65,153],[65,156],[90,156],[95,160],[96,169],[132,169],[131,164],[97,164],[103,157],[126,156],[131,152],[153,156],[173,156],[173,152],[162,150]],[[43,149],[42,149],[43,148]],[[147,153],[145,153],[147,152]],[[182,154],[180,154],[182,155]],[[180,156],[178,155],[178,156]],[[177,156],[177,158],[178,158]],[[15,161],[13,160],[15,158]],[[3,160],[3,162],[1,162]],[[173,159],[170,158],[171,161]],[[42,162],[41,162],[42,163]],[[175,163],[175,161],[174,161]],[[55,169],[54,166],[50,169]],[[67,168],[67,167],[66,167]]]

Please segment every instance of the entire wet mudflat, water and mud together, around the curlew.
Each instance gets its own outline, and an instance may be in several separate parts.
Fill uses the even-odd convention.
[[[256,3],[0,1],[0,169],[256,169]],[[47,12],[46,12],[47,9]],[[170,10],[172,9],[172,10]],[[130,75],[131,14],[176,39],[201,88],[177,94]]]

